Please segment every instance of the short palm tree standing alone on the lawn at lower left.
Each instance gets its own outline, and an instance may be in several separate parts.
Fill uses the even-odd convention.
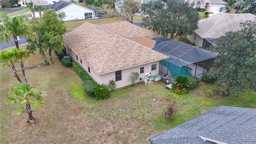
[[[17,110],[17,114],[25,114],[26,112],[29,116],[29,122],[33,123],[33,109],[44,107],[44,103],[41,101],[45,100],[45,94],[43,92],[38,92],[36,88],[30,89],[28,84],[14,86],[14,88],[10,90],[9,94],[10,93],[13,93],[14,97],[8,97],[6,103],[21,105]],[[26,105],[26,108],[24,108],[24,105]]]

